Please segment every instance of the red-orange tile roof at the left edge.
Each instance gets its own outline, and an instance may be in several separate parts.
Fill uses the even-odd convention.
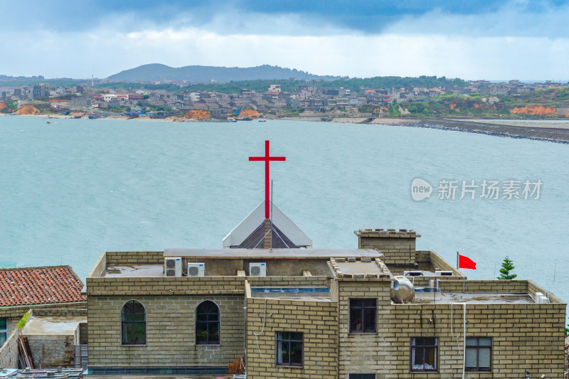
[[[82,288],[69,266],[0,269],[0,306],[85,301]]]

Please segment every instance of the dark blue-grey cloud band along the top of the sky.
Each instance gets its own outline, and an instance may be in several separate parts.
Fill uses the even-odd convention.
[[[420,33],[525,36],[531,31],[534,36],[551,36],[564,33],[568,14],[567,2],[560,0],[23,0],[3,1],[2,6],[0,31],[87,31],[99,26],[137,31],[153,26],[209,28],[223,34],[313,36],[329,34],[330,29],[378,34],[401,25]],[[113,22],[117,19],[122,23]],[[259,23],[263,19],[266,22]],[[272,19],[302,22],[294,23],[291,30],[286,23],[271,25]],[[408,20],[418,22],[408,25]],[[546,28],[533,27],[545,20],[553,23]]]

